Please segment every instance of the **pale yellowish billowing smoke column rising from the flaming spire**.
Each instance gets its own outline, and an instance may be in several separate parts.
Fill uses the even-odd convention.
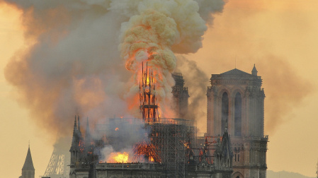
[[[208,1],[200,1],[200,4],[208,4]],[[171,73],[176,69],[174,53],[196,52],[202,46],[202,36],[207,30],[205,20],[198,13],[198,3],[192,0],[140,1],[137,11],[123,23],[120,44],[126,68],[134,72],[132,88],[135,89],[131,90],[131,95],[138,96],[136,88],[140,85],[142,62],[147,61],[154,72],[154,94],[161,117],[174,117],[167,115],[171,114],[168,109],[171,108],[171,87],[174,85]]]

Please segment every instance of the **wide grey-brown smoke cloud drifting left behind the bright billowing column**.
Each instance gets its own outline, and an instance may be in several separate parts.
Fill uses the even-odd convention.
[[[222,12],[225,4],[222,0],[1,2],[23,12],[21,22],[30,44],[7,64],[6,80],[15,86],[16,97],[30,110],[30,118],[48,133],[61,136],[72,132],[74,114],[97,121],[129,113],[125,95],[133,83],[118,46],[127,28],[124,24],[131,17],[169,3],[198,13],[203,20],[191,31],[186,30],[186,19],[172,14],[174,9],[164,11],[165,6],[161,6],[165,14],[172,14],[169,18],[180,22],[176,27],[182,29],[180,39],[171,46],[172,52],[196,52],[202,46],[205,23],[211,23],[212,13]]]

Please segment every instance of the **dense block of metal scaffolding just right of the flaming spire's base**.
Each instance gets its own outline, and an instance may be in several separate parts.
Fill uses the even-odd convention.
[[[195,139],[195,121],[186,119],[159,118],[149,122],[152,129],[151,143],[165,165],[166,177],[186,176],[186,146]]]

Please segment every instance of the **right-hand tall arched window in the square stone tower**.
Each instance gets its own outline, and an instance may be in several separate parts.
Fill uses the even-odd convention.
[[[234,136],[242,136],[242,97],[235,95],[234,101]]]

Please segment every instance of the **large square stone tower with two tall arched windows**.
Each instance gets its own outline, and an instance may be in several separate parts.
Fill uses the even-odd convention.
[[[266,178],[265,94],[255,65],[251,74],[233,69],[212,74],[210,82],[208,136],[220,136],[228,128],[234,153],[233,178]]]

